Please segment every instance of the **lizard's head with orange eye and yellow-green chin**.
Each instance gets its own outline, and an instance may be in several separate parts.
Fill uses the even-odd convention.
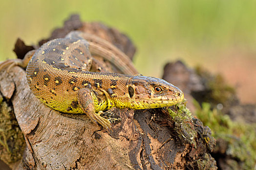
[[[171,106],[184,100],[179,88],[154,77],[134,76],[128,92],[134,109]]]

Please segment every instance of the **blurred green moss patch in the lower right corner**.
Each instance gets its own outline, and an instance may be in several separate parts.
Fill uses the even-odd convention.
[[[212,129],[217,141],[225,141],[225,154],[238,160],[241,168],[253,169],[256,164],[256,124],[232,121],[228,115],[211,110],[211,104],[207,102],[203,102],[201,107],[194,101],[194,105],[197,108],[196,116]]]

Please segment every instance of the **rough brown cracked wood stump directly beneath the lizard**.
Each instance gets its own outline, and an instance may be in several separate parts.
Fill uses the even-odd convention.
[[[86,115],[60,114],[41,103],[23,69],[3,72],[3,78],[15,84],[11,102],[27,146],[17,169],[160,170],[198,168],[198,161],[207,161],[204,168],[215,168],[209,155],[214,139],[204,142],[211,132],[198,119],[171,120],[162,109],[151,109],[136,111],[134,120],[133,110],[115,109],[121,121],[108,134]]]

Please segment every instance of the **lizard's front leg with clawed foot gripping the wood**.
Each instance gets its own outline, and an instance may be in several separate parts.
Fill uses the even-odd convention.
[[[78,91],[78,104],[84,113],[94,122],[101,124],[104,128],[109,131],[111,129],[111,123],[109,120],[100,116],[102,111],[95,113],[95,106],[93,99],[93,91],[88,88],[82,88]]]

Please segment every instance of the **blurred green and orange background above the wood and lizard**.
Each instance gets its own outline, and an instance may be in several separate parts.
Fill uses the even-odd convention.
[[[77,13],[127,34],[142,74],[161,77],[181,59],[221,73],[242,102],[256,103],[255,9],[256,0],[1,0],[0,61],[16,57],[17,37],[35,44]]]

